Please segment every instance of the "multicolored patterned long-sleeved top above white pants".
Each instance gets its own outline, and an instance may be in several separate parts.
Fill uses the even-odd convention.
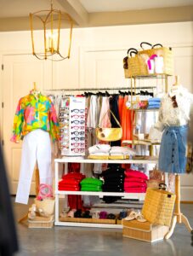
[[[53,141],[59,140],[59,123],[53,103],[47,96],[31,90],[18,103],[11,141],[19,143],[20,138],[36,129],[48,131]]]

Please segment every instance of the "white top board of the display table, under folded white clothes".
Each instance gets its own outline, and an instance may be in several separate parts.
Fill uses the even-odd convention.
[[[55,163],[84,163],[84,164],[157,164],[158,160],[93,160],[73,157],[57,158]]]

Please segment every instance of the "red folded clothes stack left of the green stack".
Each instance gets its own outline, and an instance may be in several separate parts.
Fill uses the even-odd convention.
[[[79,191],[80,182],[85,177],[82,173],[71,172],[63,175],[59,182],[59,190]]]

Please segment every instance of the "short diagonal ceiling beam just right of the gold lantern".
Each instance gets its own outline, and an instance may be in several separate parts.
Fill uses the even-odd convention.
[[[87,26],[88,12],[78,0],[56,0],[78,26]]]

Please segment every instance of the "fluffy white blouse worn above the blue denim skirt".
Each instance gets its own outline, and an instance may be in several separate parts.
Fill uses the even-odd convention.
[[[190,108],[193,104],[193,95],[183,86],[177,90],[170,90],[162,98],[158,122],[155,127],[163,131],[166,126],[187,125],[190,120]]]

